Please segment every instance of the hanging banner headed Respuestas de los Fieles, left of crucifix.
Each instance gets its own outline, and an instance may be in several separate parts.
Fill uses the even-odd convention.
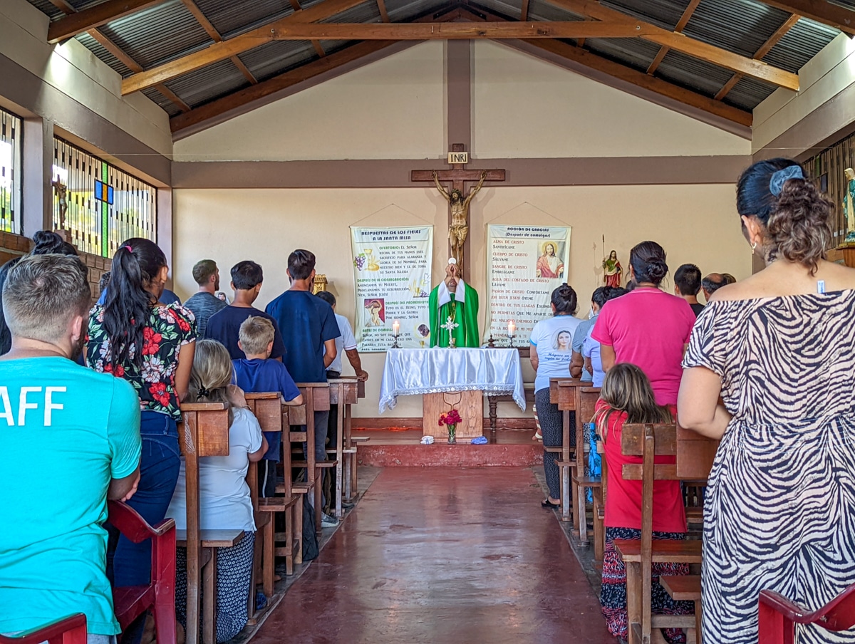
[[[360,352],[385,352],[398,322],[398,345],[430,346],[428,296],[433,226],[351,226],[357,308],[354,332]]]

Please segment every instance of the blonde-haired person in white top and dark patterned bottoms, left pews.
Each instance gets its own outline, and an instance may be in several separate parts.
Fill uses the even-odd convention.
[[[235,546],[217,551],[217,642],[231,640],[246,625],[256,525],[245,479],[250,463],[260,460],[268,448],[261,426],[246,408],[243,391],[229,384],[231,381],[232,358],[226,347],[216,340],[198,341],[186,400],[229,405],[228,456],[199,459],[199,527],[245,533]],[[181,458],[178,483],[167,512],[180,530],[186,529],[187,519],[185,468]],[[186,548],[177,549],[176,564],[175,610],[180,622],[186,624]]]

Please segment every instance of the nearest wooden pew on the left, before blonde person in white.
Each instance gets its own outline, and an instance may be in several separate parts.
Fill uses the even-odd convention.
[[[216,644],[216,548],[233,547],[243,530],[199,529],[199,458],[228,455],[228,411],[224,403],[184,403],[181,405],[185,458],[187,529],[176,532],[176,545],[187,549],[186,644],[199,642],[201,591],[205,601],[203,644]]]

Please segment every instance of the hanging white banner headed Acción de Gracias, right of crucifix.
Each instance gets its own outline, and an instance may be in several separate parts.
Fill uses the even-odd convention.
[[[535,322],[551,316],[551,294],[567,281],[569,227],[487,226],[487,322],[497,346],[507,346],[508,322],[516,325],[514,346],[528,346]]]

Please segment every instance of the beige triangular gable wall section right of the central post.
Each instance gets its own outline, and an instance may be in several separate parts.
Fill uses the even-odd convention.
[[[751,142],[487,40],[475,41],[481,158],[747,155]]]

